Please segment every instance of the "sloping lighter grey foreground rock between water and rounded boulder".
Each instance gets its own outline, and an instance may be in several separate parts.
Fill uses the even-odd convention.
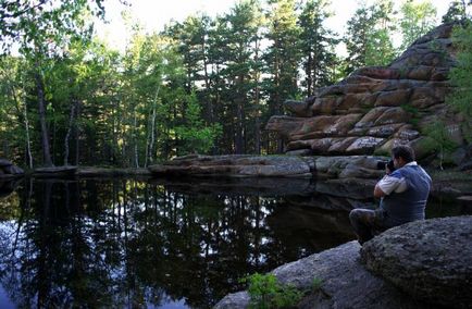
[[[359,262],[360,246],[350,242],[282,265],[273,271],[283,284],[309,291],[298,308],[435,308],[405,295],[388,282],[371,274]],[[321,286],[313,289],[313,280]],[[246,292],[231,294],[214,308],[247,308]]]

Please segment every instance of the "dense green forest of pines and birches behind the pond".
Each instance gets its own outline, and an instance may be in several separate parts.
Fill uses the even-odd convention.
[[[438,21],[427,0],[361,1],[340,36],[325,25],[327,0],[247,0],[161,33],[131,21],[119,52],[94,35],[102,0],[2,0],[0,157],[138,168],[186,153],[277,153],[283,143],[264,124],[286,99],[387,65],[439,23],[469,20],[471,3],[451,1]]]

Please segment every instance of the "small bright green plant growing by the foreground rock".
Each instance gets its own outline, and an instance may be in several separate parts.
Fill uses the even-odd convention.
[[[293,285],[281,285],[274,274],[249,275],[245,281],[249,283],[248,293],[251,297],[250,308],[270,309],[294,307],[303,293]]]

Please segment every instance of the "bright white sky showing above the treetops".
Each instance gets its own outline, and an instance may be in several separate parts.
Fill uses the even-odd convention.
[[[111,47],[124,50],[129,32],[122,18],[122,11],[127,10],[133,21],[138,21],[149,32],[160,32],[171,20],[182,22],[185,17],[206,12],[214,17],[229,12],[238,0],[127,0],[125,7],[120,0],[105,0],[105,18],[109,23],[97,25],[97,35]],[[358,0],[332,0],[335,15],[326,21],[326,26],[341,35],[346,23],[356,12]],[[399,2],[399,1],[396,1]],[[451,0],[432,0],[437,8],[437,20],[446,13]]]

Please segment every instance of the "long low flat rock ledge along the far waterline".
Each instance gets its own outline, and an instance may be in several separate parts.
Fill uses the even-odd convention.
[[[386,157],[298,157],[298,156],[199,156],[177,157],[161,165],[149,166],[154,175],[195,177],[297,177],[381,178],[377,162]]]

